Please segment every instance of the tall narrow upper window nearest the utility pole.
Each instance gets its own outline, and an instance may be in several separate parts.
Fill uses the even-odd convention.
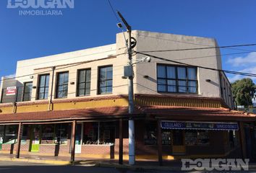
[[[98,94],[112,93],[113,66],[99,68],[98,75]]]

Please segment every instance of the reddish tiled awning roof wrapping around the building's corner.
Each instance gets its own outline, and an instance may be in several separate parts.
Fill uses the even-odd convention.
[[[141,116],[140,116],[141,115]],[[226,108],[148,106],[136,107],[133,117],[156,117],[170,120],[229,120],[252,121],[255,114]],[[0,115],[0,123],[37,123],[69,120],[97,120],[128,117],[128,107],[98,107],[82,110],[54,110]]]

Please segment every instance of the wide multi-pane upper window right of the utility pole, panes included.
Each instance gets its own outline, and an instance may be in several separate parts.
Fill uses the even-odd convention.
[[[158,92],[197,93],[197,68],[158,65]]]

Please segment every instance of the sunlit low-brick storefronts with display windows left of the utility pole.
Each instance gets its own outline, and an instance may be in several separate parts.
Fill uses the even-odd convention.
[[[16,154],[19,125],[0,125],[0,153]],[[114,159],[116,122],[77,122],[74,151],[79,157]],[[22,125],[20,154],[70,156],[72,123]]]

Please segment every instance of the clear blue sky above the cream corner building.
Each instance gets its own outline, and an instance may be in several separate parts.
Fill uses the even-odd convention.
[[[107,0],[74,0],[62,16],[20,16],[0,1],[0,76],[16,62],[115,43],[116,18]],[[215,37],[219,45],[256,43],[255,0],[111,0],[135,30]],[[221,49],[222,54],[256,51]],[[223,56],[223,68],[256,74],[256,53]],[[229,76],[234,81],[240,76]]]

